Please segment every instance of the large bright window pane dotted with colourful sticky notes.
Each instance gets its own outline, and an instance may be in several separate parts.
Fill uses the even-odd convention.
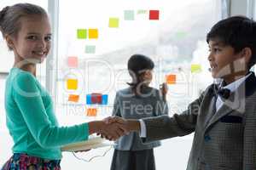
[[[176,84],[169,85],[167,96],[170,116],[184,111],[212,82],[206,35],[220,20],[220,1],[73,0],[60,1],[59,5],[55,90],[56,113],[61,124],[110,116],[116,91],[131,81],[126,71],[131,54],[145,54],[154,59],[156,66],[151,83],[154,88],[159,88],[167,75],[176,75]],[[150,10],[159,10],[159,15],[158,12],[151,15],[154,20],[149,20]],[[75,80],[70,90],[68,80]],[[108,105],[86,105],[86,95],[92,93],[108,94]],[[78,95],[78,101],[68,101],[71,95]],[[91,107],[97,109],[96,117],[87,116],[87,109]],[[157,168],[166,169],[166,162],[175,160],[170,162],[172,168],[184,169],[191,144],[191,136],[163,141],[155,153]],[[182,154],[177,156],[177,152]],[[75,159],[67,157],[69,161]],[[108,155],[96,160],[99,164],[86,164],[86,167],[109,167],[111,157]],[[63,167],[71,168],[65,160],[64,156]]]

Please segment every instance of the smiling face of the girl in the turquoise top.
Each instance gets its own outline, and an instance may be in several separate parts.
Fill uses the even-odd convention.
[[[47,16],[33,15],[20,18],[20,31],[12,38],[15,58],[42,63],[49,54],[51,32]]]

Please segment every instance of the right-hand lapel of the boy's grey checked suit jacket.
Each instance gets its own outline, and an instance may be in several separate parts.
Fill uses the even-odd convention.
[[[246,105],[246,98],[253,94],[253,92],[256,90],[256,78],[253,72],[251,72],[251,75],[247,77],[246,81],[241,83],[241,85],[236,89],[235,92],[230,94],[230,98],[224,100],[224,105],[219,108],[219,110],[212,116],[212,119],[209,123],[207,123],[206,131],[209,127],[212,127],[212,125],[215,122],[218,122],[218,120],[229,114],[231,111],[237,111],[241,114],[245,111],[245,105]],[[215,106],[215,104],[214,104]],[[209,106],[209,111],[212,106]]]

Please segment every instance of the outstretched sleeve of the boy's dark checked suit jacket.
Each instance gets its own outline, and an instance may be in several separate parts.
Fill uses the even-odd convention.
[[[169,139],[193,133],[204,94],[201,94],[200,98],[195,99],[189,105],[188,109],[180,115],[174,114],[172,117],[156,116],[144,118],[143,121],[146,125],[147,137],[143,138],[143,142]]]

